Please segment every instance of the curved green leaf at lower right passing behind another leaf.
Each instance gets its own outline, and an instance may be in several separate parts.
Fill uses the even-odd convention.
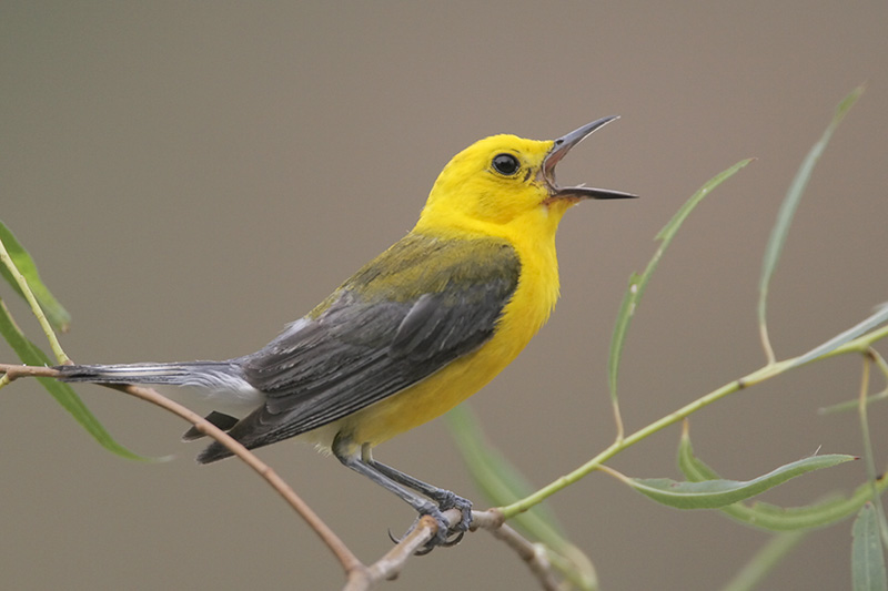
[[[716,480],[718,473],[694,455],[690,438],[683,435],[678,446],[678,468],[692,482]],[[879,492],[888,488],[888,478],[875,482]],[[758,529],[768,531],[799,531],[831,526],[848,519],[872,498],[872,485],[864,482],[849,497],[830,496],[827,499],[800,507],[778,507],[766,502],[743,502],[723,507],[726,516]]]

